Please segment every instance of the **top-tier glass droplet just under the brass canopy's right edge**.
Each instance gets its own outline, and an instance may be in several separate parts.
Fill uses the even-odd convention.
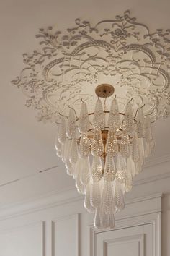
[[[108,126],[117,130],[120,129],[120,125],[121,122],[117,100],[113,99],[109,110]]]

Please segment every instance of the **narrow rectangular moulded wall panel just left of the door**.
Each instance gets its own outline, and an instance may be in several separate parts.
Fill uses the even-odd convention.
[[[53,221],[53,256],[79,256],[79,215]]]

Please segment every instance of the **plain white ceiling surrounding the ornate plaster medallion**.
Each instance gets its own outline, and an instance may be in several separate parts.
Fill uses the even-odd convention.
[[[71,27],[76,17],[95,23],[127,9],[151,30],[170,28],[169,0],[0,1],[0,206],[73,187],[55,156],[55,125],[38,123],[35,111],[24,106],[24,95],[10,82],[24,67],[22,54],[37,48],[38,29]],[[169,127],[170,119],[154,124],[156,148],[151,158],[170,155]],[[47,168],[52,169],[38,174]]]

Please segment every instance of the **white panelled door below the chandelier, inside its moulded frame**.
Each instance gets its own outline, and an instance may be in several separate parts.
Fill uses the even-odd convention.
[[[153,256],[153,225],[96,233],[95,256]]]

